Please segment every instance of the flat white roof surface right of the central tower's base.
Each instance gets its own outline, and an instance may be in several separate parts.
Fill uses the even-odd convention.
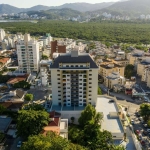
[[[103,113],[102,129],[110,131],[111,133],[123,133],[123,127],[119,118],[111,118],[110,112],[118,112],[115,102],[110,103],[111,97],[100,96],[97,98],[96,111]]]

